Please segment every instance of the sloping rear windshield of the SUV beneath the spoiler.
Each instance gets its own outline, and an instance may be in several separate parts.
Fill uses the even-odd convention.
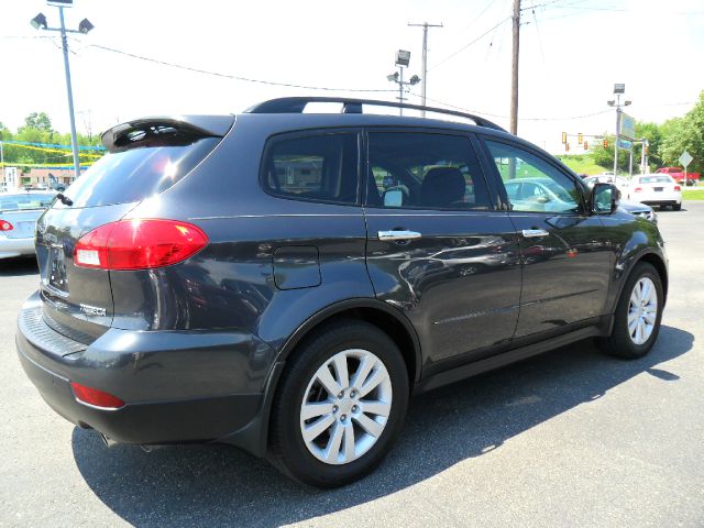
[[[106,154],[64,193],[73,207],[141,201],[168,189],[186,176],[221,138],[188,144],[133,147]]]

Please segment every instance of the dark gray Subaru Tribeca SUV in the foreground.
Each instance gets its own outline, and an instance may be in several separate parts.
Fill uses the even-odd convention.
[[[650,351],[664,242],[614,186],[480,117],[363,106],[422,109],[285,98],[107,131],[37,223],[18,318],[50,406],[107,443],[227,442],[332,487],[383,460],[411,394],[587,338]],[[516,207],[526,175],[560,207]]]

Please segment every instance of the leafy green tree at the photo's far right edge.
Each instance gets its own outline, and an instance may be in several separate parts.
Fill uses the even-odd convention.
[[[704,91],[700,94],[698,102],[684,118],[666,122],[663,132],[666,133],[661,155],[664,165],[681,166],[679,157],[686,151],[694,158],[688,172],[704,172]]]

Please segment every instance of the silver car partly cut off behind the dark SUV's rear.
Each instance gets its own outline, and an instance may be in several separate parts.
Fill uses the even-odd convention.
[[[0,258],[33,255],[34,227],[56,193],[0,193]]]

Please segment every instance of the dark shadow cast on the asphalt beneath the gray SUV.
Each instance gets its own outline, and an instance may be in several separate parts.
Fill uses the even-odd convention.
[[[367,503],[501,448],[508,439],[686,353],[694,337],[662,327],[645,359],[602,355],[591,341],[428,393],[417,398],[400,441],[369,477],[321,492],[298,485],[238,449],[178,446],[143,452],[106,448],[92,431],[74,429],[76,464],[96,495],[138,527],[279,526]]]

